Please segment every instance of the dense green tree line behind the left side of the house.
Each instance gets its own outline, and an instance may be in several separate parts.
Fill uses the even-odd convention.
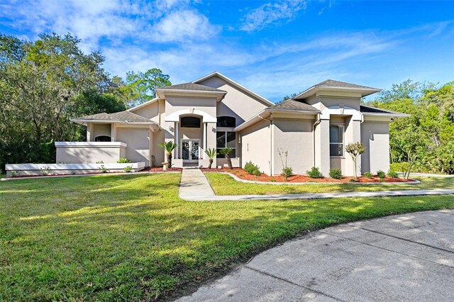
[[[70,118],[126,110],[171,84],[157,68],[111,77],[101,53],[84,54],[79,45],[70,34],[34,42],[0,35],[0,169],[54,162],[55,141],[86,140],[84,126]]]

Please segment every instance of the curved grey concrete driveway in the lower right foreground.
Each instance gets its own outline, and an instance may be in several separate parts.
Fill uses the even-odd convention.
[[[326,228],[179,301],[454,301],[454,210]]]

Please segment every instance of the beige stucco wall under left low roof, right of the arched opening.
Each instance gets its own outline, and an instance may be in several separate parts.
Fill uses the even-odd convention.
[[[150,130],[148,128],[117,128],[117,140],[126,142],[126,158],[131,162],[150,165]]]

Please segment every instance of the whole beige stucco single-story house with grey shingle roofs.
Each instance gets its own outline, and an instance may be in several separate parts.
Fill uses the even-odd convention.
[[[282,170],[278,149],[288,151],[295,174],[319,167],[353,175],[345,145],[361,141],[366,152],[358,171],[389,169],[389,123],[406,115],[363,106],[360,99],[380,91],[328,79],[279,104],[255,94],[219,72],[194,82],[156,89],[156,98],[127,111],[74,118],[87,125],[87,142],[56,142],[57,162],[116,162],[127,158],[161,165],[160,142],[173,140],[174,167],[206,167],[207,148],[233,147],[234,167],[248,161],[266,174]],[[214,161],[226,164],[223,155]]]

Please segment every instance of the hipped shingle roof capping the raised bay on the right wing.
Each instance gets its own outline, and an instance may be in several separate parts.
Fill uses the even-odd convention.
[[[333,79],[326,79],[325,81],[320,82],[319,84],[315,84],[309,89],[301,92],[301,94],[295,96],[294,99],[306,99],[321,90],[358,92],[361,94],[361,96],[368,96],[369,94],[375,94],[375,92],[382,91],[382,89],[372,88],[369,86],[362,86],[358,84],[336,81]]]

